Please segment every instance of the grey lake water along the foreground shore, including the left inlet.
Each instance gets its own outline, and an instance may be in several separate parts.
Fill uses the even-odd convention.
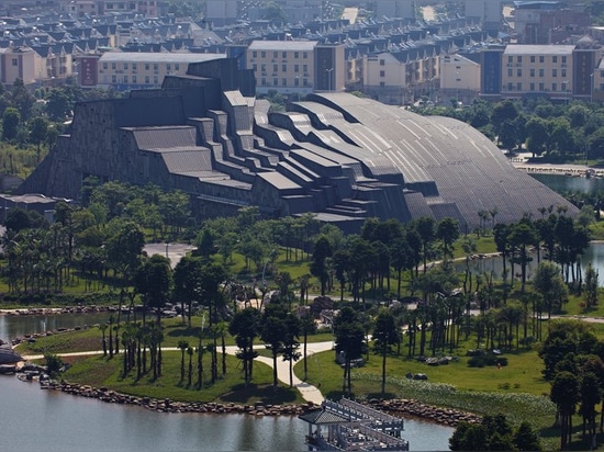
[[[48,329],[51,325],[76,326],[68,317],[48,316]],[[105,317],[85,316],[81,320],[92,325],[105,321]],[[14,337],[30,326],[43,331],[42,320],[44,317],[0,316],[0,338],[5,340],[9,334]],[[24,383],[9,375],[0,375],[0,451],[305,450],[307,423],[297,417],[155,413],[43,391],[37,383]],[[452,432],[449,427],[409,419],[404,438],[412,451],[443,451],[448,450]]]

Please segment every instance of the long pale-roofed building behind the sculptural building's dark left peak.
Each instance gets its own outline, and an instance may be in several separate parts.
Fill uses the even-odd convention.
[[[79,81],[82,86],[113,87],[118,90],[158,88],[166,76],[187,74],[190,63],[225,57],[225,54],[108,52],[98,58],[98,63],[93,60],[94,56],[79,58]],[[98,74],[97,79],[91,80],[90,72],[94,69]]]

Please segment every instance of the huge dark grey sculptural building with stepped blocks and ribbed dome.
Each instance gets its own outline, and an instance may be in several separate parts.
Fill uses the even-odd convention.
[[[347,93],[315,93],[269,112],[236,60],[191,64],[158,90],[82,102],[19,193],[77,199],[82,181],[153,182],[191,195],[199,218],[258,206],[267,217],[314,212],[356,230],[368,217],[515,222],[577,208],[516,170],[480,132]]]

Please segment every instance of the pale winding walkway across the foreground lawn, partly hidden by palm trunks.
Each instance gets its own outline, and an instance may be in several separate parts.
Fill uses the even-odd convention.
[[[334,347],[333,341],[327,342],[309,342],[306,344],[306,359],[311,359],[314,353],[320,353],[323,351],[332,350]],[[265,346],[258,344],[255,346],[256,349],[264,349]],[[176,347],[168,347],[161,349],[164,351],[180,351],[180,349]],[[235,355],[235,353],[238,351],[237,347],[235,346],[228,346],[226,347],[226,353]],[[96,354],[103,354],[102,350],[94,350],[94,351],[80,351],[80,352],[74,352],[74,353],[58,353],[61,358],[70,358],[70,357],[91,357]],[[30,355],[23,355],[23,360],[25,361],[32,361],[32,360],[42,360],[44,359],[44,355],[42,354],[30,354]],[[272,359],[268,357],[258,357],[256,358],[256,361],[261,362],[264,364],[267,364],[270,369],[272,369]],[[280,382],[289,385],[290,384],[290,363],[288,361],[283,361],[281,358],[277,360],[277,377]],[[306,402],[312,402],[315,405],[321,405],[321,403],[325,399],[323,397],[323,394],[321,391],[309,383],[305,383],[301,381],[295,374],[293,374],[293,386],[300,392],[302,395],[302,398]]]

